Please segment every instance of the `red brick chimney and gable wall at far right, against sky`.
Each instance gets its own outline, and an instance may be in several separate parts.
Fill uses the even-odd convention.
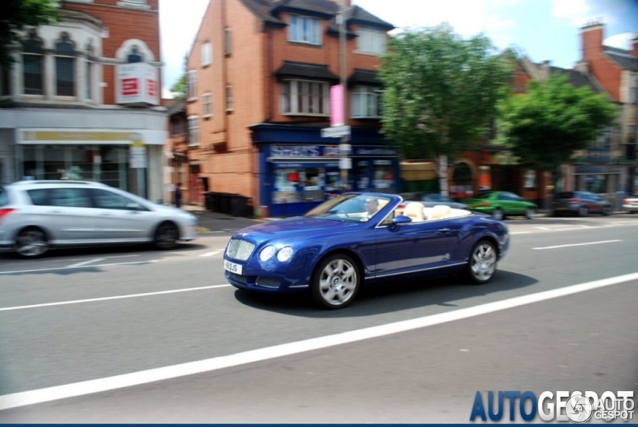
[[[589,62],[590,73],[607,90],[614,101],[620,101],[622,70],[603,53],[603,26],[583,29],[582,59]]]

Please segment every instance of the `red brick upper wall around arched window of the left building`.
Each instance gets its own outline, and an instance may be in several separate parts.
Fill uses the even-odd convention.
[[[63,2],[63,7],[71,10],[81,10],[102,21],[108,29],[108,38],[102,39],[102,55],[114,58],[115,52],[122,43],[130,39],[144,41],[155,56],[155,61],[161,61],[159,48],[159,0],[147,0],[150,10],[118,7],[120,0],[94,0],[94,3]],[[114,66],[103,64],[102,81],[107,83],[103,88],[103,103],[115,104]],[[161,87],[161,70],[159,72],[159,87]]]

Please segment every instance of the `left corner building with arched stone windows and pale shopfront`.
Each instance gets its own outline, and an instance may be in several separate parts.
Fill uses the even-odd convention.
[[[158,0],[66,0],[60,14],[0,70],[0,182],[96,180],[161,201]]]

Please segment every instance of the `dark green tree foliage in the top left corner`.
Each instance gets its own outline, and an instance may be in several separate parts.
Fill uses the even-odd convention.
[[[24,27],[52,24],[59,19],[57,0],[2,0],[0,6],[0,65],[13,62],[9,46]]]

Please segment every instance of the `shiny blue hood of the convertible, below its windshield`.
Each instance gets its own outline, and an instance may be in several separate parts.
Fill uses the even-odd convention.
[[[335,221],[315,217],[293,217],[277,221],[263,222],[244,228],[237,235],[248,235],[256,240],[271,240],[273,238],[306,238],[309,236],[326,235],[343,232],[348,229],[360,228],[362,224]]]

